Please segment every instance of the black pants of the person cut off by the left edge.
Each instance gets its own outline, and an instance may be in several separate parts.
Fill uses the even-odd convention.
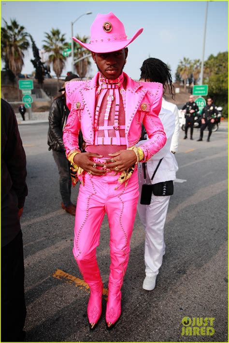
[[[24,342],[26,319],[22,232],[1,248],[1,342]]]

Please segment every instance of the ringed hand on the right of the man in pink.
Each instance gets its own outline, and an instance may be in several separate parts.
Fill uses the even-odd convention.
[[[133,150],[119,150],[106,161],[107,169],[115,172],[123,172],[137,162],[137,156]]]

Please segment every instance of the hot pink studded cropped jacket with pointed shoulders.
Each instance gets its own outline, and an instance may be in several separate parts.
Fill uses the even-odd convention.
[[[87,81],[70,81],[66,85],[66,103],[70,109],[67,124],[63,131],[63,141],[68,156],[79,149],[78,133],[82,130],[87,144],[94,143],[94,114],[96,88],[100,73]],[[126,87],[126,124],[127,147],[134,146],[141,138],[142,123],[149,140],[141,148],[144,160],[155,155],[166,143],[163,125],[158,117],[162,102],[162,84],[157,82],[134,81],[124,73]]]

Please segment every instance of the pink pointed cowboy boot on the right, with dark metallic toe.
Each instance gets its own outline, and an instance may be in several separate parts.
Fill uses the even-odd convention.
[[[108,330],[111,330],[121,317],[121,298],[120,287],[109,286],[106,308],[106,327]]]

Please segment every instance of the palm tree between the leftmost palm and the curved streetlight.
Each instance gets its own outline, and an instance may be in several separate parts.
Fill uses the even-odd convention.
[[[50,33],[44,32],[44,35],[43,49],[49,54],[48,62],[53,64],[53,70],[57,75],[57,88],[59,88],[59,78],[66,61],[63,50],[68,47],[68,43],[65,40],[65,34],[61,34],[58,29],[52,29]]]

